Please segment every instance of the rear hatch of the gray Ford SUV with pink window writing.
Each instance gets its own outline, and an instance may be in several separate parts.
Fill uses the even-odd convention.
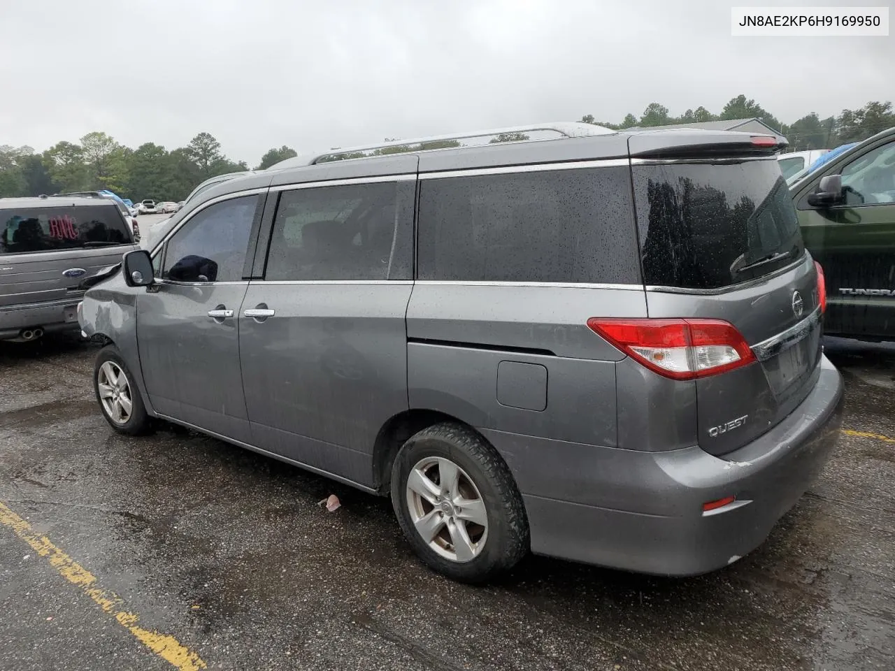
[[[0,201],[0,308],[72,299],[84,276],[121,261],[133,234],[114,202],[30,208]]]

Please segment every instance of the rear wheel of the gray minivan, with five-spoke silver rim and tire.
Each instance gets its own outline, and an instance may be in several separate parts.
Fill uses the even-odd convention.
[[[507,464],[463,425],[436,424],[407,440],[392,466],[391,499],[413,551],[453,580],[487,581],[528,552],[528,521]]]

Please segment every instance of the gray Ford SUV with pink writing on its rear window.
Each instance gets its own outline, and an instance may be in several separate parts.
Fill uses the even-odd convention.
[[[77,332],[81,280],[135,249],[114,200],[0,199],[0,340]]]

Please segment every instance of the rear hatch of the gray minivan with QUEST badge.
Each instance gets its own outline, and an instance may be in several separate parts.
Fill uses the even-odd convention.
[[[698,442],[711,454],[793,412],[821,357],[814,261],[780,166],[745,141],[745,149],[712,146],[700,156],[689,148],[632,165],[650,318],[724,320],[755,355],[681,383],[695,384]]]

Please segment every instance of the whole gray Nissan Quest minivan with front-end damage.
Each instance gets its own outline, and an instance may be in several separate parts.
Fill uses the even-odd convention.
[[[390,496],[457,580],[529,550],[737,561],[840,426],[777,140],[499,132],[559,137],[340,149],[201,194],[82,302],[102,412]]]

